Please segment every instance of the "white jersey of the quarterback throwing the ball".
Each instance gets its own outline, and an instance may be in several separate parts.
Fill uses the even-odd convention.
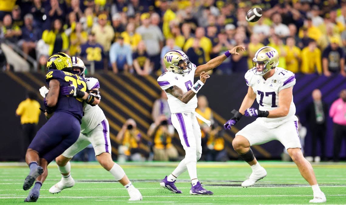
[[[189,73],[173,73],[172,71],[168,71],[160,77],[157,78],[157,82],[162,88],[162,90],[166,90],[167,88],[175,85],[179,87],[184,93],[191,90],[193,86],[194,73],[196,71],[196,65],[191,63],[190,67],[192,70]],[[170,93],[167,93],[168,104],[170,106],[171,113],[181,113],[181,112],[192,112],[197,108],[197,96],[193,96],[192,99],[188,103],[183,103]]]

